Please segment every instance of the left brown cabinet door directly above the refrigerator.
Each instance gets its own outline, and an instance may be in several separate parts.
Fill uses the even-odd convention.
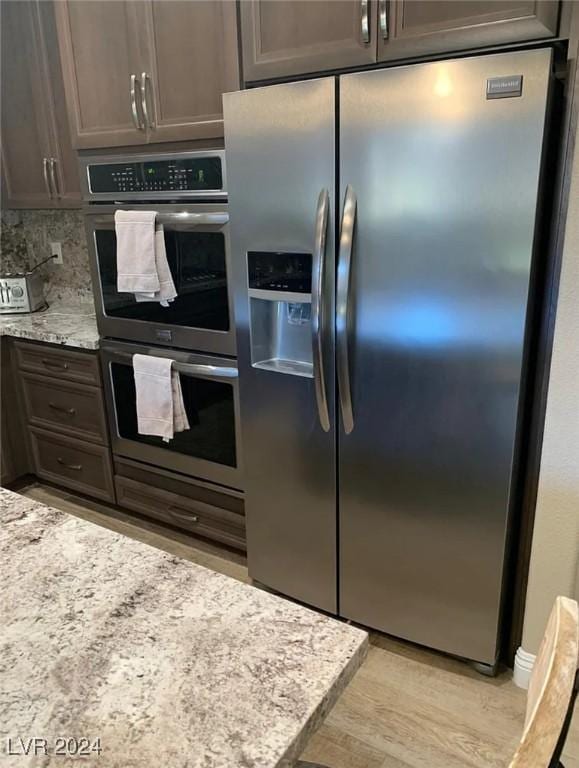
[[[376,61],[374,0],[244,0],[246,81]]]

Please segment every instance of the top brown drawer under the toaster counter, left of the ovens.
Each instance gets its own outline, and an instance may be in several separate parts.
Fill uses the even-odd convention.
[[[16,359],[21,371],[43,373],[79,384],[100,387],[101,377],[98,357],[90,352],[59,349],[46,344],[30,344],[17,341]]]

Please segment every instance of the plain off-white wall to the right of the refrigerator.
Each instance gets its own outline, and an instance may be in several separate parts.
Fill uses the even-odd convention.
[[[579,597],[579,146],[561,265],[522,648],[536,654],[553,601]]]

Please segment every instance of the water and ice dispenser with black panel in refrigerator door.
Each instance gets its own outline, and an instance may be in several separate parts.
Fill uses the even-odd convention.
[[[313,376],[312,254],[249,251],[251,363]]]

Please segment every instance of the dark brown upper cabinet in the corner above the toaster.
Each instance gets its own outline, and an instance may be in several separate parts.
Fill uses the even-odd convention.
[[[6,0],[0,16],[3,205],[78,206],[53,4]]]

